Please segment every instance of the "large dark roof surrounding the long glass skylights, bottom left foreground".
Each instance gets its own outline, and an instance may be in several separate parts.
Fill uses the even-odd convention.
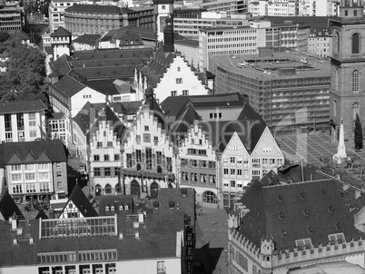
[[[37,265],[38,253],[79,250],[116,250],[118,261],[177,258],[176,232],[184,228],[182,212],[147,215],[143,225],[138,228],[139,239],[135,239],[134,233],[128,234],[128,224],[131,228],[132,222],[128,222],[125,215],[117,215],[116,218],[117,231],[125,233],[123,240],[119,240],[119,233],[117,236],[93,238],[79,236],[39,239],[40,221],[29,220],[29,234],[33,236],[34,244],[29,244],[28,240],[19,240],[17,245],[13,244],[11,224],[0,221],[0,266]]]

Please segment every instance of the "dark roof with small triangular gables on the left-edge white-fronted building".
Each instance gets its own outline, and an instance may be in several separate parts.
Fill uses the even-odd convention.
[[[0,146],[3,147],[5,164],[67,161],[66,149],[60,140],[5,142]]]

